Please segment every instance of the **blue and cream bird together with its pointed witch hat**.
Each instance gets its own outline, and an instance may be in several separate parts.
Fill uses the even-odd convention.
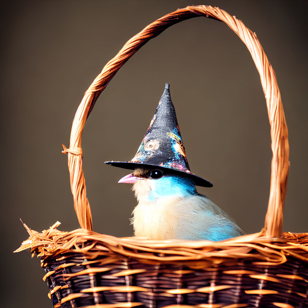
[[[189,168],[168,83],[132,160],[105,163],[133,170],[119,183],[133,184],[138,201],[131,219],[135,236],[222,241],[245,234],[220,207],[197,192],[196,186],[213,184]]]

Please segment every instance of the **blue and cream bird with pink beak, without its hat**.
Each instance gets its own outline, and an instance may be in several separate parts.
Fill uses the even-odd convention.
[[[138,205],[131,221],[137,237],[222,241],[245,234],[185,176],[141,166],[119,183],[133,183]]]

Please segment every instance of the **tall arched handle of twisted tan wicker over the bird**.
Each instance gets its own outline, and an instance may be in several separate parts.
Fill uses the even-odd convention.
[[[86,184],[82,170],[81,135],[86,119],[96,99],[120,67],[122,67],[140,47],[150,39],[159,35],[169,26],[199,16],[225,22],[245,43],[260,74],[270,120],[273,152],[270,198],[265,217],[265,236],[281,237],[283,209],[290,163],[288,130],[276,75],[256,34],[252,33],[234,16],[229,15],[224,10],[211,6],[187,6],[184,9],[176,10],[152,22],[140,33],[132,37],[119,53],[105,65],[101,73],[94,79],[93,83],[84,94],[73,120],[70,148],[67,149],[63,146],[63,153],[68,153],[71,191],[74,197],[75,211],[82,228],[92,229],[92,216],[90,205],[86,197]]]

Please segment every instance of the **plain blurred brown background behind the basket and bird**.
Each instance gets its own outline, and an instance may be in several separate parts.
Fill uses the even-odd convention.
[[[189,1],[2,1],[3,307],[51,307],[44,272],[29,251],[12,251],[32,229],[59,220],[79,227],[67,157],[72,119],[84,91],[122,45],[150,22]],[[307,1],[219,1],[255,31],[278,78],[290,139],[284,230],[307,232]],[[83,133],[83,166],[94,230],[132,235],[136,201],[131,159],[164,83],[190,167],[213,182],[199,188],[247,232],[263,227],[270,186],[270,126],[260,78],[229,28],[194,18],[164,31],[132,57],[99,97]],[[4,273],[4,275],[3,275]]]

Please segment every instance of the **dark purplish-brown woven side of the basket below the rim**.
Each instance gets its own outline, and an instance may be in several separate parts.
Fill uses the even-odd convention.
[[[82,254],[45,259],[53,307],[308,307],[308,268],[290,257],[280,265],[253,259],[210,260],[168,264],[141,263],[133,258],[105,263]],[[106,257],[107,258],[107,257]],[[90,263],[90,264],[89,264]],[[62,303],[61,303],[62,302]],[[105,305],[103,305],[105,306]],[[94,306],[93,306],[94,307]],[[233,306],[230,306],[233,307]]]

